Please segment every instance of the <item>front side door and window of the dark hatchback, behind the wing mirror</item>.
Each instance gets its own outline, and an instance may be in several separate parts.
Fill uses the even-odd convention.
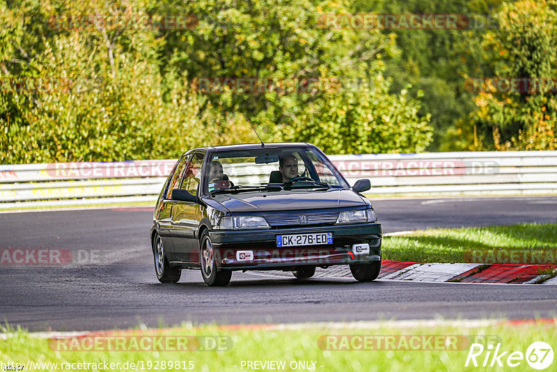
[[[204,152],[196,152],[191,156],[180,183],[192,195],[198,195],[199,183],[203,174]],[[196,233],[201,222],[202,211],[198,203],[175,201],[172,208],[173,245],[177,261],[198,263],[198,236]]]

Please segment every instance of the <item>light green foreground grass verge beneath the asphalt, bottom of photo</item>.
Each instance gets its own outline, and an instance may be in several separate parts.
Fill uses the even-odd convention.
[[[123,335],[126,341],[121,343],[120,350],[98,350],[100,349],[96,346],[98,337],[104,337],[102,343],[99,342],[98,345],[107,345],[107,337],[124,337]],[[479,343],[485,348],[485,351],[476,357],[479,366],[483,364],[487,355],[488,344],[494,346],[494,349],[497,343],[500,343],[499,351],[508,351],[505,357],[501,358],[505,369],[509,368],[505,363],[510,352],[519,351],[524,355],[524,359],[515,360],[520,363],[517,370],[525,371],[529,369],[525,354],[531,343],[544,341],[554,349],[557,347],[554,322],[407,328],[396,325],[394,327],[393,325],[379,327],[305,325],[299,329],[288,327],[286,329],[281,327],[235,329],[234,327],[182,325],[169,330],[138,330],[120,334],[115,331],[97,335],[95,343],[89,344],[93,345],[93,350],[88,351],[56,350],[60,348],[57,346],[60,341],[39,339],[22,330],[8,331],[5,336],[7,336],[5,340],[0,340],[1,362],[22,364],[24,371],[30,369],[36,371],[72,369],[80,371],[245,371],[250,370],[247,368],[247,362],[251,362],[252,366],[253,363],[258,362],[258,369],[268,371],[273,369],[269,368],[273,366],[269,364],[272,361],[283,362],[284,368],[275,368],[282,371],[473,371],[477,368],[471,361],[469,366],[465,367],[472,343]],[[129,341],[132,337],[139,341],[138,345],[141,348],[141,340],[152,340],[155,336],[166,337],[165,340],[177,339],[178,336],[187,337],[188,340],[217,340],[217,342],[221,340],[220,345],[225,342],[227,347],[221,348],[222,350],[206,351],[198,348],[186,351],[162,349],[152,351],[149,348],[140,351],[130,350]],[[75,342],[71,340],[68,341],[68,345],[87,344],[85,339]],[[363,343],[363,340],[368,342]],[[163,346],[164,342],[162,342]],[[199,346],[200,343],[196,345]],[[341,350],[338,350],[339,348]],[[478,352],[479,346],[475,348],[474,350]],[[34,364],[28,364],[29,362]],[[105,365],[105,362],[113,363],[115,368]],[[168,367],[168,362],[172,362],[172,367]],[[178,368],[175,368],[176,362]],[[490,362],[491,357],[488,358],[488,365]],[[85,365],[85,363],[90,364]],[[134,368],[130,368],[131,363],[135,364]],[[557,361],[553,364],[557,364]]]

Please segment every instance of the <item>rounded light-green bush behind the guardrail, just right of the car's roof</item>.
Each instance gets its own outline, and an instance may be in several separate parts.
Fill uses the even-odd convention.
[[[379,75],[372,87],[357,93],[328,95],[324,104],[308,104],[296,117],[288,139],[313,141],[328,153],[420,152],[431,140],[429,116],[418,116],[419,104],[406,90],[390,95]],[[323,123],[327,123],[323,130]],[[332,135],[331,135],[332,134]]]

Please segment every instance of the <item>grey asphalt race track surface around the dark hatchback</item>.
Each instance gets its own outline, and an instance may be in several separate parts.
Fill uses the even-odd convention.
[[[556,222],[557,196],[373,201],[384,232]],[[0,214],[1,249],[71,251],[65,265],[0,265],[0,317],[29,330],[101,330],[193,323],[289,323],[557,314],[555,286],[427,284],[235,272],[208,288],[184,270],[155,277],[148,208]],[[557,242],[557,238],[556,238]],[[293,277],[292,277],[293,278]]]

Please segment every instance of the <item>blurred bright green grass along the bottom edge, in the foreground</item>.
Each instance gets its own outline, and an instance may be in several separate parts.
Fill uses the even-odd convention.
[[[483,327],[464,327],[462,325],[441,325],[437,327],[335,327],[327,325],[308,325],[299,330],[265,330],[246,329],[226,330],[215,326],[191,327],[182,326],[171,330],[137,331],[138,336],[220,336],[229,338],[232,347],[222,351],[56,351],[46,339],[32,337],[29,333],[19,330],[8,332],[5,341],[0,340],[0,360],[2,362],[28,361],[42,363],[58,363],[58,369],[45,368],[36,371],[68,371],[62,369],[61,363],[120,363],[116,371],[130,371],[121,366],[125,362],[140,362],[147,366],[148,362],[192,361],[193,371],[246,371],[241,369],[242,361],[285,361],[291,371],[292,361],[314,361],[315,371],[476,371],[477,368],[464,367],[469,352],[469,342],[460,341],[458,350],[323,350],[322,336],[327,335],[450,335],[450,336],[490,336],[501,343],[501,351],[508,350],[526,352],[534,341],[545,341],[557,348],[557,332],[555,323],[535,323],[528,325],[508,325],[499,323]],[[116,333],[118,332],[116,331]],[[114,335],[113,334],[113,335]],[[320,339],[320,337],[322,337]],[[464,339],[464,338],[462,338]],[[461,340],[462,340],[461,339]],[[469,340],[469,339],[465,339]],[[510,354],[507,353],[507,356]],[[481,364],[485,352],[477,360]],[[505,358],[502,362],[505,363]],[[557,361],[554,361],[554,365]],[[181,366],[182,364],[180,364]],[[480,367],[481,368],[481,367]],[[508,369],[508,367],[507,367]],[[91,371],[91,368],[81,371]],[[99,371],[111,369],[98,368]],[[135,370],[135,369],[133,369]],[[141,370],[141,369],[139,369]],[[154,369],[144,369],[153,371]],[[158,371],[176,371],[180,369],[162,369]],[[268,370],[268,369],[267,369]],[[485,369],[481,369],[485,370]],[[501,371],[503,369],[492,369]],[[525,360],[521,361],[517,371],[529,370]],[[551,368],[547,369],[548,371]],[[27,371],[25,367],[24,371]]]

